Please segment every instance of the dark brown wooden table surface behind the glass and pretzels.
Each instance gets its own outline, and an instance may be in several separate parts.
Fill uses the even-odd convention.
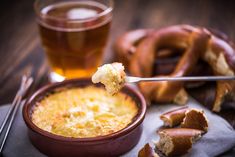
[[[219,0],[116,0],[105,62],[113,59],[112,44],[127,30],[192,24],[215,28],[235,40],[235,2]],[[23,73],[48,83],[48,65],[40,45],[33,1],[3,0],[0,5],[0,104],[11,102]],[[235,104],[235,103],[234,103]],[[235,110],[220,113],[235,128]],[[230,151],[235,155],[235,151]]]

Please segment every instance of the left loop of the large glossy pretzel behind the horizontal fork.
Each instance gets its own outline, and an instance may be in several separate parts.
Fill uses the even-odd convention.
[[[151,77],[157,49],[183,47],[186,51],[169,77],[188,75],[196,66],[200,53],[206,50],[208,38],[209,36],[203,30],[190,32],[181,27],[170,27],[155,32],[153,36],[143,40],[137,47],[130,62],[130,73],[134,76]],[[183,102],[178,101],[179,104],[185,104],[187,101],[187,98],[175,99],[182,93],[183,82],[143,82],[139,85],[145,97],[150,100],[158,102],[183,100]]]

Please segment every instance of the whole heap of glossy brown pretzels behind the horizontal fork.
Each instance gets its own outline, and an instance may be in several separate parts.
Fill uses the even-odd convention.
[[[206,61],[214,75],[235,74],[235,51],[223,35],[205,28],[178,25],[160,30],[135,30],[121,36],[115,50],[119,61],[133,76],[152,77],[154,62],[161,58],[162,48],[183,50],[182,57],[168,77],[190,75],[199,59]],[[171,51],[170,53],[175,53]],[[154,76],[159,77],[159,76]],[[185,104],[188,95],[184,82],[141,82],[140,90],[149,101]],[[235,81],[217,81],[213,111],[219,112],[227,96],[235,98]]]

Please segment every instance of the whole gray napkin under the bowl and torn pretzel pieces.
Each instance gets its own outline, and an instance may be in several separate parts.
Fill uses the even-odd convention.
[[[190,107],[203,108],[198,102],[191,99],[188,104]],[[128,153],[122,157],[136,157],[140,148],[145,143],[156,141],[159,137],[156,131],[162,126],[159,119],[161,113],[179,107],[176,105],[152,105],[147,110],[144,120],[143,133],[139,143]],[[0,107],[0,122],[3,121],[9,105]],[[235,131],[221,117],[211,113],[203,108],[210,121],[209,131],[204,135],[185,155],[186,157],[213,157],[217,156],[233,147],[235,147]],[[7,139],[3,156],[4,157],[45,157],[30,143],[27,136],[27,128],[24,124],[20,108],[17,117],[13,123],[12,130]],[[1,123],[0,123],[1,124]],[[235,155],[233,155],[235,156]]]

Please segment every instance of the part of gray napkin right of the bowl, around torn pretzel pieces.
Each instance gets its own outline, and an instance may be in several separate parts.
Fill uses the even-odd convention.
[[[188,106],[203,109],[209,120],[208,132],[194,145],[190,152],[184,157],[214,157],[235,147],[235,131],[227,121],[208,109],[201,106],[194,99],[190,99]],[[152,105],[148,108],[144,120],[144,131],[138,145],[123,157],[135,157],[138,151],[147,143],[158,141],[156,131],[163,125],[159,116],[166,111],[174,109],[176,105]],[[234,154],[235,156],[235,154]]]

